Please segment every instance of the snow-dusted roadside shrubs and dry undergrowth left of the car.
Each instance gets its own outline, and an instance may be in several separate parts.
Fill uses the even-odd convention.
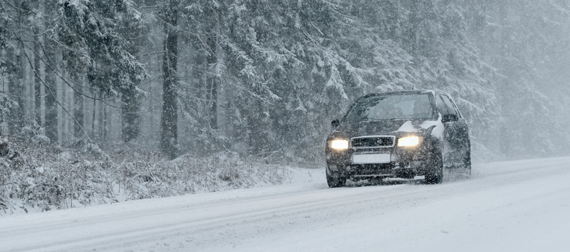
[[[250,188],[290,181],[283,167],[232,153],[166,160],[156,152],[106,155],[96,145],[28,148],[0,157],[0,215]]]

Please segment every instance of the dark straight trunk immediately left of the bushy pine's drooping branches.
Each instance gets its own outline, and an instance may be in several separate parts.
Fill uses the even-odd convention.
[[[50,18],[55,13],[57,4],[53,0],[45,1],[45,27],[50,27]],[[44,36],[44,51],[45,59],[47,61],[45,67],[45,136],[50,138],[52,142],[57,143],[58,128],[57,128],[57,81],[55,80],[56,70],[56,57],[55,57],[55,44],[49,37]]]

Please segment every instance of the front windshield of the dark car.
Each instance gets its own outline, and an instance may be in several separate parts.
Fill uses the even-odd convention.
[[[359,100],[345,121],[430,119],[432,115],[428,94],[380,95]]]

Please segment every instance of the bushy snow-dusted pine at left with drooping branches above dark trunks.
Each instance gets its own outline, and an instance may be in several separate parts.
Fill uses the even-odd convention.
[[[147,75],[142,64],[130,53],[137,51],[125,38],[131,35],[125,30],[137,28],[140,13],[129,0],[62,1],[60,5],[62,12],[55,30],[58,41],[67,45],[64,48],[67,65],[85,72],[91,87],[98,90],[99,97],[121,97],[122,138],[125,141],[137,138],[137,95],[141,93],[137,85]],[[85,95],[83,90],[76,89],[75,92]],[[79,97],[76,100],[79,110],[81,100]],[[81,117],[81,114],[77,116]]]

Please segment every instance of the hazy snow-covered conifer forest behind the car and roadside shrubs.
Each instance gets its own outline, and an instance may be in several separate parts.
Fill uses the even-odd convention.
[[[0,0],[2,133],[322,162],[370,92],[449,92],[474,160],[568,155],[570,3]]]

